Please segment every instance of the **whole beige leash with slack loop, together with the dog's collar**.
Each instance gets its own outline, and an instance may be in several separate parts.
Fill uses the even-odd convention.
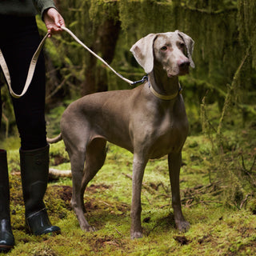
[[[130,84],[130,86],[134,86],[135,84],[139,83],[139,82],[145,82],[145,81],[148,81],[149,82],[149,86],[150,86],[150,81],[148,80],[148,77],[147,76],[144,76],[142,78],[142,80],[138,80],[138,81],[131,81],[127,78],[124,78],[121,74],[119,74],[116,70],[114,70],[106,61],[104,61],[104,59],[102,59],[101,57],[98,56],[98,54],[95,54],[94,51],[90,50],[89,47],[87,47],[81,40],[78,39],[78,37],[76,35],[74,35],[73,32],[71,32],[68,28],[66,27],[63,27],[62,26],[62,30],[65,30],[68,34],[70,34],[70,36],[72,38],[74,38],[74,40],[76,42],[78,42],[81,46],[83,46],[86,50],[88,50],[90,52],[90,54],[93,54],[96,58],[98,58],[101,62],[103,62],[108,68],[110,68],[110,70],[112,70],[114,72],[114,74],[116,74],[119,78],[121,78],[123,81],[127,82]],[[40,42],[39,46],[38,46],[38,49],[35,51],[32,59],[31,59],[31,62],[30,62],[30,67],[29,67],[29,70],[28,70],[28,74],[27,74],[27,77],[26,77],[26,82],[25,82],[25,86],[22,90],[22,93],[21,94],[15,94],[14,93],[14,90],[12,89],[11,87],[11,81],[10,81],[10,72],[8,70],[8,66],[6,64],[6,60],[2,54],[2,50],[0,49],[0,66],[2,67],[2,71],[3,71],[3,74],[5,75],[6,77],[6,82],[8,84],[8,87],[9,87],[9,90],[10,90],[10,94],[11,96],[13,96],[14,98],[21,98],[24,94],[26,94],[26,91],[28,90],[29,86],[30,86],[30,82],[32,81],[32,78],[34,76],[34,70],[35,70],[35,66],[37,65],[37,62],[38,62],[38,57],[39,57],[39,54],[42,50],[42,46],[44,45],[45,41],[46,41],[46,38],[48,38],[48,35],[49,33],[47,33],[45,35],[44,38],[42,38],[42,41]],[[180,89],[178,90],[178,94],[172,94],[172,95],[162,95],[162,94],[158,94],[158,92],[156,92],[154,90],[154,88],[152,86],[150,86],[150,90],[151,92],[158,98],[161,98],[161,99],[164,99],[164,100],[170,100],[170,99],[173,99],[175,98],[176,96],[178,96],[178,94],[181,94],[182,93],[182,87],[180,86]]]

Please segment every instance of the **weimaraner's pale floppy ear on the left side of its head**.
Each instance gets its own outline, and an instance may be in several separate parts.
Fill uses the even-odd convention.
[[[140,66],[149,74],[154,67],[154,51],[153,44],[157,34],[148,34],[145,38],[141,38],[130,48],[134,58]]]

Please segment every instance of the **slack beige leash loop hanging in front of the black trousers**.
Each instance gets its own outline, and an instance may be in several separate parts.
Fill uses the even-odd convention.
[[[42,39],[42,41],[40,42],[40,44],[38,46],[38,49],[35,51],[32,59],[31,59],[30,68],[28,70],[28,74],[27,74],[27,77],[26,77],[26,83],[25,83],[25,86],[22,90],[22,94],[15,94],[14,90],[11,87],[10,73],[9,73],[9,70],[8,70],[8,66],[6,64],[5,58],[3,57],[2,50],[0,49],[0,66],[2,67],[2,72],[6,77],[6,82],[8,84],[10,94],[14,98],[21,98],[24,94],[26,94],[26,91],[28,90],[28,88],[30,86],[30,82],[32,81],[32,78],[34,76],[34,69],[35,69],[35,66],[37,65],[39,54],[42,50],[42,46],[43,46],[44,42],[46,41],[46,38],[48,37],[48,35],[49,35],[49,33],[47,33],[46,36]]]

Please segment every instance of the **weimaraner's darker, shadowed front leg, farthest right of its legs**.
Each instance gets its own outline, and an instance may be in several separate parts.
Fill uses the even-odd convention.
[[[168,155],[168,165],[170,174],[170,185],[172,193],[172,206],[174,208],[174,220],[178,230],[186,232],[190,223],[186,222],[182,214],[180,189],[179,189],[179,173],[182,165],[182,152],[178,154]]]

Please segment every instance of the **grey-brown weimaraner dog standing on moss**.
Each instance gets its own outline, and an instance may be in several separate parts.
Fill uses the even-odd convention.
[[[86,95],[68,106],[61,119],[61,134],[70,157],[73,177],[71,205],[82,230],[94,230],[84,216],[83,194],[106,158],[106,141],[134,154],[131,203],[131,238],[142,238],[142,178],[149,159],[168,154],[172,206],[178,230],[189,223],[182,214],[179,173],[188,121],[178,76],[194,67],[194,41],[175,32],[148,34],[131,47],[148,79],[133,90]],[[84,166],[86,162],[86,165]]]

